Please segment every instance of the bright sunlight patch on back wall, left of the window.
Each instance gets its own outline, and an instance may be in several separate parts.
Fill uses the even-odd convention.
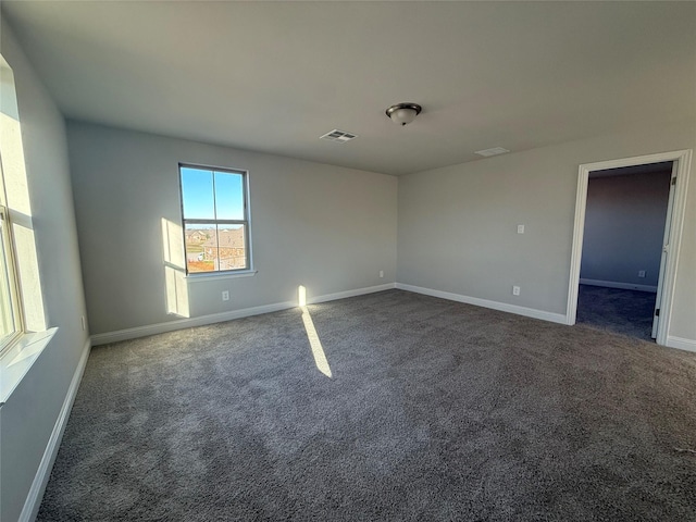
[[[166,313],[179,318],[190,318],[183,234],[181,225],[162,217],[162,260]]]

